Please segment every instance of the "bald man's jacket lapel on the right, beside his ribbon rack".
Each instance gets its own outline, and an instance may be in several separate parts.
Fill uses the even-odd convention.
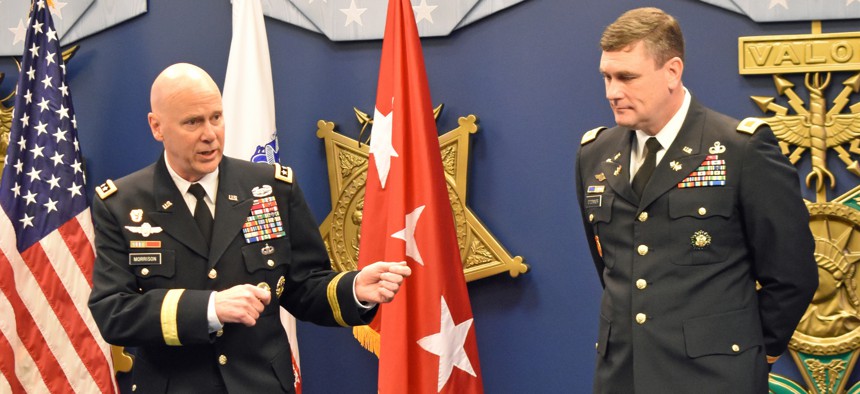
[[[249,190],[238,181],[243,174],[233,173],[231,161],[224,156],[218,172],[218,198],[215,199],[215,227],[209,249],[209,268],[215,267],[237,232],[241,231],[254,202]]]

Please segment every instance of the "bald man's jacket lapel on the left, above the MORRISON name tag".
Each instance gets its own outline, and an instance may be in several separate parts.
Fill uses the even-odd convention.
[[[152,190],[155,196],[155,212],[149,216],[161,226],[164,232],[200,256],[206,257],[209,254],[206,240],[197,228],[194,216],[185,204],[182,193],[176,188],[170,173],[167,172],[164,154],[156,163],[154,173]]]

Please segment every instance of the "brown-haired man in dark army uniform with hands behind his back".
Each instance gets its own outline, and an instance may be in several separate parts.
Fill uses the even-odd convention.
[[[603,285],[594,392],[767,393],[818,283],[797,173],[763,122],[684,88],[670,15],[628,11],[600,44],[618,126],[585,134],[576,171]]]

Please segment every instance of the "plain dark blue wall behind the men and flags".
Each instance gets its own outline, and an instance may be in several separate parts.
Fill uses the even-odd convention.
[[[468,205],[532,268],[519,278],[469,284],[488,393],[591,391],[601,290],[576,209],[573,158],[585,130],[612,123],[597,71],[600,34],[623,11],[642,5],[529,0],[449,37],[422,40],[433,101],[445,104],[439,130],[456,127],[459,116],[480,119],[472,136]],[[809,22],[758,24],[700,1],[649,5],[681,22],[690,91],[737,118],[762,115],[749,96],[777,96],[769,76],[738,75],[737,38],[810,33]],[[227,0],[150,1],[147,14],[79,42],[68,78],[90,196],[106,178],[126,175],[161,153],[146,114],[150,83],[164,67],[195,63],[223,83],[230,7]],[[860,28],[856,20],[823,26],[825,32]],[[335,43],[268,18],[266,28],[281,161],[296,171],[321,221],[331,206],[316,122],[334,121],[357,137],[352,107],[372,113],[381,41]],[[0,59],[0,71],[8,74],[2,96],[13,89],[14,67],[10,58]],[[801,165],[808,167],[808,158]],[[831,168],[844,165],[832,162]],[[856,183],[842,172],[837,192]],[[350,330],[300,323],[299,337],[306,393],[376,392],[375,357]],[[785,358],[776,372],[800,381]]]

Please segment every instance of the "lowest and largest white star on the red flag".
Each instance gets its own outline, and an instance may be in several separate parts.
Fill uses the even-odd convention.
[[[445,296],[442,296],[442,313],[440,315],[439,332],[418,340],[418,345],[424,350],[439,356],[437,391],[442,391],[442,387],[448,383],[451,371],[455,366],[469,375],[477,377],[464,347],[466,336],[469,335],[469,328],[472,327],[474,319],[468,319],[454,325],[454,319],[451,317],[448,303],[445,302]]]

